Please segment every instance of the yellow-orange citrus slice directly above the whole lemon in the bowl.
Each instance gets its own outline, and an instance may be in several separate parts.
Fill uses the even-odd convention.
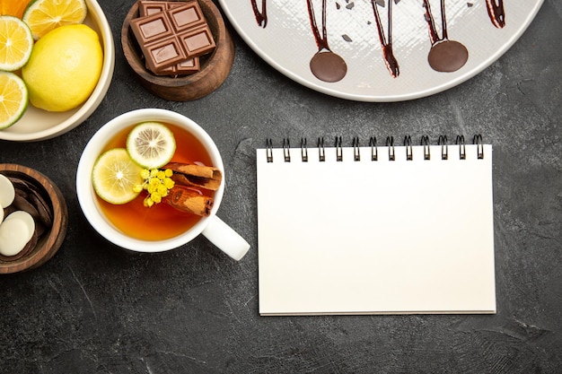
[[[82,23],[88,8],[84,0],[34,0],[23,12],[33,39],[40,39],[59,26]]]

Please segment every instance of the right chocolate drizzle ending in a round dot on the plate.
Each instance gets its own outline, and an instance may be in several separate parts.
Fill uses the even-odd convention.
[[[435,28],[435,20],[431,12],[429,0],[424,0],[424,7],[426,8],[426,22],[429,26],[429,39],[431,40],[431,49],[427,55],[427,62],[437,72],[456,72],[468,61],[469,51],[460,42],[449,39],[445,16],[445,0],[441,0],[441,38]]]

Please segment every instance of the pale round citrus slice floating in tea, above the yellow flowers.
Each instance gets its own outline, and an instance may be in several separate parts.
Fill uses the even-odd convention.
[[[162,123],[144,122],[127,136],[127,152],[143,168],[158,169],[170,162],[176,152],[176,140]]]

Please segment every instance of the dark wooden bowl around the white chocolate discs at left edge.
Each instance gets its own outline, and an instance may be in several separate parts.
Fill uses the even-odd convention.
[[[6,177],[22,178],[40,190],[41,196],[53,211],[53,225],[41,235],[35,248],[14,260],[0,258],[0,274],[17,273],[45,264],[57,253],[66,237],[68,211],[66,201],[58,187],[37,170],[12,163],[0,164],[0,173]]]

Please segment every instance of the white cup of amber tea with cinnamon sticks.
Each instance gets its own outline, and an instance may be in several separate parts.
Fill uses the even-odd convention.
[[[166,175],[174,180],[173,187],[156,204],[148,202],[150,193],[145,189],[127,203],[110,203],[94,188],[94,165],[103,153],[127,149],[127,136],[145,123],[162,124],[171,130],[175,151],[160,170],[171,170]],[[201,171],[199,175],[199,170],[212,170],[214,174],[211,177]],[[136,109],[101,126],[86,144],[78,163],[76,194],[92,228],[121,248],[162,252],[179,248],[200,234],[235,260],[244,257],[250,248],[216,215],[224,195],[224,164],[215,142],[189,117],[171,110]]]

